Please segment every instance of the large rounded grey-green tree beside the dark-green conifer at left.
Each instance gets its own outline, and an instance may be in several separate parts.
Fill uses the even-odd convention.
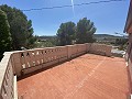
[[[35,41],[32,21],[28,20],[26,15],[16,8],[11,8],[7,4],[0,6],[0,8],[8,16],[13,50],[21,50],[22,46],[26,48],[31,47]]]

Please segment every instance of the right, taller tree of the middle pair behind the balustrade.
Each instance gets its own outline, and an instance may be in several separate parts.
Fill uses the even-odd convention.
[[[77,23],[77,32],[76,32],[76,42],[77,43],[92,43],[95,42],[94,33],[96,32],[96,28],[94,22],[84,18],[79,20]]]

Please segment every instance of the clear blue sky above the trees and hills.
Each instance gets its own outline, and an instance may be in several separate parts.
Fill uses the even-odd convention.
[[[101,0],[73,0],[74,3],[94,2]],[[105,1],[105,0],[103,0]],[[108,0],[106,0],[108,1]],[[34,34],[55,35],[61,23],[80,19],[90,19],[97,28],[96,34],[123,33],[130,0],[88,4],[81,7],[24,12],[32,20]],[[0,0],[0,4],[8,4],[20,10],[48,8],[55,6],[72,4],[72,0]]]

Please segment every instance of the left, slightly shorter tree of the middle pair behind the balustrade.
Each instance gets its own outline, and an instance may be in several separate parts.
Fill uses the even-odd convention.
[[[62,23],[57,31],[59,45],[69,45],[75,40],[76,24],[74,22]]]

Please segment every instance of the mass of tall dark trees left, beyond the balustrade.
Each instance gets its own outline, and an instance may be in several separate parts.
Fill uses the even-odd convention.
[[[31,48],[35,41],[32,21],[16,8],[0,6],[0,58],[8,51]]]

